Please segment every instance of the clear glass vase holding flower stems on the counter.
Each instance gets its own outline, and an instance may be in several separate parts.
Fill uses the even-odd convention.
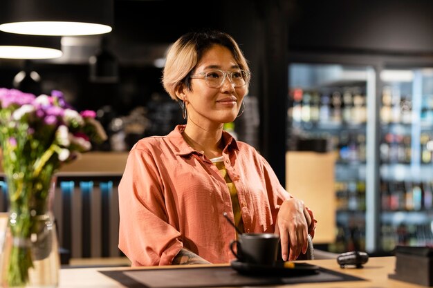
[[[54,216],[50,209],[54,188],[55,179],[46,197],[30,201],[33,204],[29,204],[28,208],[10,203],[1,251],[1,287],[57,287],[59,249]]]

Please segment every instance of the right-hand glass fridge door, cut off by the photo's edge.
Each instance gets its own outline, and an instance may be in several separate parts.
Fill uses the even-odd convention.
[[[380,106],[380,248],[433,244],[433,69],[387,69]]]

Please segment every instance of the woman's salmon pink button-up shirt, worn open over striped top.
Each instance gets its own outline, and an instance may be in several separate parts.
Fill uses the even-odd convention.
[[[184,129],[146,137],[129,152],[119,184],[119,248],[133,266],[171,265],[182,248],[212,263],[234,260],[229,244],[236,232],[223,217],[227,212],[233,220],[228,186],[216,165],[185,142]],[[291,195],[255,148],[225,131],[223,143],[244,231],[274,232],[279,207]]]

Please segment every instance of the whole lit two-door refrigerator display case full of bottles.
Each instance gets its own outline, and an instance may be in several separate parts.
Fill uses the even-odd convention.
[[[328,249],[387,255],[397,244],[432,245],[433,68],[288,69],[287,150],[326,143],[336,156]]]

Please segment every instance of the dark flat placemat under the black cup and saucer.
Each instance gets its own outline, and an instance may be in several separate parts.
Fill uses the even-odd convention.
[[[186,269],[129,269],[99,271],[129,288],[194,288],[224,286],[283,285],[313,282],[364,280],[337,271],[319,268],[314,275],[293,277],[244,276],[232,267],[194,267]]]

